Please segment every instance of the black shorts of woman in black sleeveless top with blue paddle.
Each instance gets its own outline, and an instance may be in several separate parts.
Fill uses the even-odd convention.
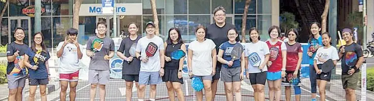
[[[178,78],[178,69],[165,69],[165,74],[162,76],[162,81],[179,82],[183,84],[183,78]]]

